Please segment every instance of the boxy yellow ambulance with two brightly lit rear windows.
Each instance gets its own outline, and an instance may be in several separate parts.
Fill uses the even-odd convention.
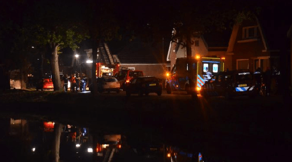
[[[168,94],[183,90],[188,94],[199,94],[205,81],[224,71],[225,58],[200,57],[177,58],[170,73],[167,73],[165,88]]]

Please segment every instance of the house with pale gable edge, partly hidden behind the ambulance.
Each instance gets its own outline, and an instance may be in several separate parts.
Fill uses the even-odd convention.
[[[175,32],[175,31],[174,31]],[[192,41],[192,57],[200,55],[201,57],[217,57],[225,56],[228,41],[230,38],[230,31],[211,32],[193,38]],[[187,52],[184,42],[180,40],[171,41],[167,55],[167,61],[170,61],[171,68],[175,64],[176,58],[186,58]]]

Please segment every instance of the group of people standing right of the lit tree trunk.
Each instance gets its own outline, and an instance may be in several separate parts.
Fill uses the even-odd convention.
[[[82,92],[86,91],[86,83],[87,77],[84,73],[81,73],[81,77],[79,73],[77,75],[72,74],[71,77],[68,79],[68,75],[65,74],[64,76],[64,91],[68,91],[68,81],[70,81],[70,91],[71,92],[78,92],[79,90]]]

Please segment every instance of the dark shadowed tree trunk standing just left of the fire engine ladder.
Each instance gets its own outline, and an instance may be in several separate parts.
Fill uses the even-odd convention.
[[[92,41],[92,87],[93,95],[97,95],[97,81],[96,81],[96,70],[97,70],[97,39]]]

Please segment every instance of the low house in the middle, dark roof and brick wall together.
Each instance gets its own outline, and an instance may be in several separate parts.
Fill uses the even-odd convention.
[[[145,76],[165,78],[166,71],[170,70],[170,61],[166,60],[168,44],[144,43],[140,39],[129,42],[117,53],[121,67],[132,70],[142,70]]]

